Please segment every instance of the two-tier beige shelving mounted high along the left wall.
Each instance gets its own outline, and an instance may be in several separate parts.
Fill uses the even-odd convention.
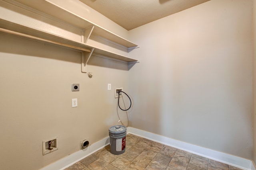
[[[128,57],[128,51],[137,48],[136,44],[49,0],[0,0],[0,28],[2,32],[36,41],[89,53],[94,49],[93,53],[98,55],[138,62]],[[99,42],[91,37],[100,37]]]

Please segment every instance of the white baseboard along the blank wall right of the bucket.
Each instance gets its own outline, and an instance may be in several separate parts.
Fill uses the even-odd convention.
[[[235,166],[237,168],[241,168],[244,170],[255,170],[255,165],[252,160],[248,160],[248,159],[234,156],[231,154],[226,154],[226,153],[219,152],[216,150],[207,149],[204,147],[199,147],[196,145],[192,145],[189,143],[185,143],[182,141],[178,141],[175,139],[171,139],[168,137],[150,133],[147,131],[142,131],[140,129],[136,129],[133,127],[128,127],[128,132],[132,133],[134,135],[144,137],[146,139],[150,139],[152,141],[162,143],[164,145],[168,145],[168,146],[171,146],[171,147],[174,147],[177,149],[185,150],[185,151],[188,151],[188,152],[200,155],[200,156],[204,156],[206,158],[210,158],[212,160],[216,160],[216,161],[219,161],[219,162],[222,162],[225,164],[229,164],[229,165]]]

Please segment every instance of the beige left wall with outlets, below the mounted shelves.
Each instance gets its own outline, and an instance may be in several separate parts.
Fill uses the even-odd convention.
[[[118,121],[113,88],[128,91],[128,66],[94,56],[89,62],[92,78],[81,72],[79,52],[0,34],[1,170],[37,170],[80,150],[82,139],[108,137]],[[42,141],[55,136],[59,149],[43,156]]]

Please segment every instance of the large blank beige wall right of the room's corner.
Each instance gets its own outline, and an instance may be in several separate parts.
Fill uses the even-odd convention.
[[[211,0],[130,30],[130,126],[252,159],[251,27],[251,0]]]

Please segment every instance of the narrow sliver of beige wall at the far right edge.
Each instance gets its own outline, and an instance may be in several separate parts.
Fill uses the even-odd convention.
[[[253,47],[253,160],[256,162],[256,0],[252,0],[252,47]]]

